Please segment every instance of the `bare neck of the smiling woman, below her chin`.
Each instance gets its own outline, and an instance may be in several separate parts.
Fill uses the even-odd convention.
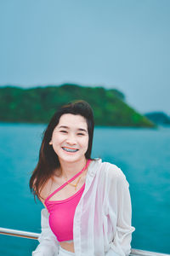
[[[82,158],[81,160],[77,160],[75,162],[65,162],[62,160],[59,160],[60,162],[60,170],[61,170],[61,176],[70,179],[74,175],[77,174],[77,172],[82,171],[82,168],[86,166],[87,160],[86,158]]]

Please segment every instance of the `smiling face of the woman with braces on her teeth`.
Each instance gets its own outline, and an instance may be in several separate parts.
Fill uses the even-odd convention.
[[[88,150],[88,125],[82,115],[65,113],[54,128],[50,145],[59,157],[59,162],[75,162],[85,158]]]

